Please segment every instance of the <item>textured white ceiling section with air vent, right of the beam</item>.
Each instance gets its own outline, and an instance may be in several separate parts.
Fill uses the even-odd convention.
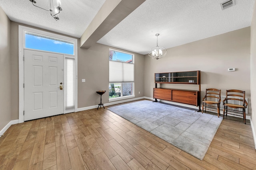
[[[166,49],[251,25],[254,0],[146,0],[98,43],[141,54],[158,45]]]

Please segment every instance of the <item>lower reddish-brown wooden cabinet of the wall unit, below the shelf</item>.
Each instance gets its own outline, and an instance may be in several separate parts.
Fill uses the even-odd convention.
[[[199,106],[199,91],[171,88],[154,88],[154,98]]]

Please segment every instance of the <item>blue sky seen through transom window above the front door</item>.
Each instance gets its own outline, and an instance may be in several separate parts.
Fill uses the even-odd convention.
[[[74,55],[74,44],[25,34],[25,48]]]

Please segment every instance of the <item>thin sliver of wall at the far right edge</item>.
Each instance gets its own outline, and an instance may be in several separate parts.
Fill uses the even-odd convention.
[[[256,149],[256,3],[252,14],[251,25],[251,102],[252,102],[252,127],[254,131],[254,143]]]

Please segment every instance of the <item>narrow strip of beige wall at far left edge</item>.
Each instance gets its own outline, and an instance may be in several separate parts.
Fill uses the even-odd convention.
[[[11,120],[10,20],[0,7],[0,130]]]

